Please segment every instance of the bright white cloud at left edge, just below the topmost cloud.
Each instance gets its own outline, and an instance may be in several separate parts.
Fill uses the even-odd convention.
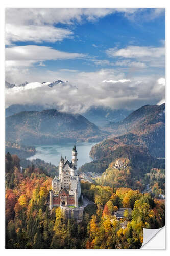
[[[6,45],[17,41],[34,41],[41,43],[62,41],[71,38],[73,32],[68,29],[56,28],[52,25],[16,25],[6,24]]]

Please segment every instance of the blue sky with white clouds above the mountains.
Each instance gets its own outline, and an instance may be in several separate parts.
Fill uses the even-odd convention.
[[[122,91],[118,97],[129,93],[136,107],[164,99],[164,78],[164,9],[6,10],[6,80],[11,83],[61,79],[98,90],[116,84]],[[121,106],[106,101],[96,99],[96,105]]]

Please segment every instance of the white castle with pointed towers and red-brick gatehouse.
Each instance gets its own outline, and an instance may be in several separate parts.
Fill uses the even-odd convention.
[[[52,190],[50,190],[50,209],[54,206],[60,206],[67,211],[66,214],[68,217],[71,215],[71,211],[75,215],[76,209],[77,213],[82,215],[82,210],[84,209],[84,207],[79,207],[78,205],[78,200],[81,197],[81,186],[77,170],[77,161],[77,150],[76,145],[74,145],[72,148],[71,163],[66,157],[64,159],[61,156],[59,178],[55,176],[52,181]],[[71,209],[69,206],[74,206],[74,209]]]

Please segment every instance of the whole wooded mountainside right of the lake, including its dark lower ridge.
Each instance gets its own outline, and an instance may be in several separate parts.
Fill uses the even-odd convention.
[[[133,160],[136,170],[140,162],[140,173],[145,173],[151,162],[152,167],[164,168],[165,104],[142,106],[123,121],[110,123],[110,126],[112,134],[91,148],[90,156],[94,160],[82,165],[80,172],[103,173],[119,158]]]

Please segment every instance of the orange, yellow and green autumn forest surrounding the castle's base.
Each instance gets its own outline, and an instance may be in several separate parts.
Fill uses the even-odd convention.
[[[82,194],[95,205],[85,207],[77,224],[60,207],[49,210],[51,182],[43,167],[32,164],[20,172],[18,156],[6,154],[6,248],[140,248],[143,228],[165,224],[164,200],[153,193],[89,182],[81,183]],[[158,183],[152,179],[153,191]],[[121,208],[126,210],[118,219]]]

